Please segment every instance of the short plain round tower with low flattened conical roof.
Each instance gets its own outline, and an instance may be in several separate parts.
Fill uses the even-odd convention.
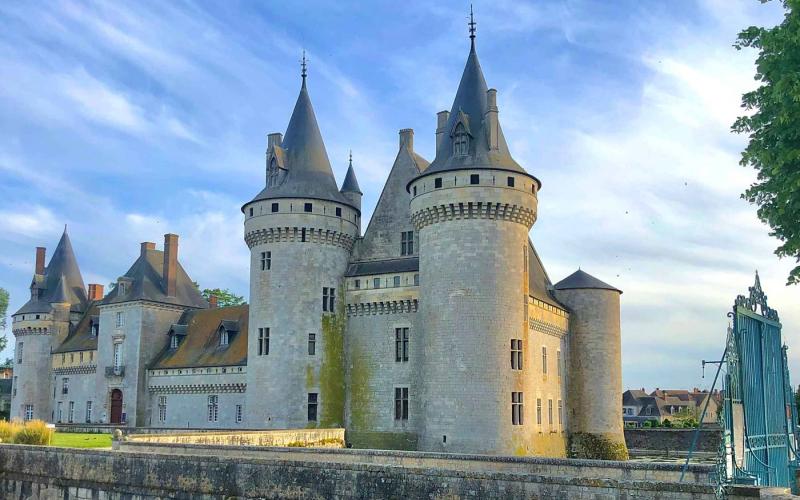
[[[626,460],[620,404],[622,292],[578,270],[555,285],[569,308],[567,411],[570,455]]]

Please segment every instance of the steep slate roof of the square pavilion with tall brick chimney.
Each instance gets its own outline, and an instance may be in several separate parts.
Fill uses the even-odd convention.
[[[208,302],[200,294],[200,290],[183,270],[178,262],[175,297],[168,297],[164,284],[164,252],[161,250],[144,250],[139,258],[125,273],[129,283],[125,294],[120,294],[119,286],[115,286],[102,300],[102,304],[118,304],[134,300],[148,300],[164,304],[206,308]]]

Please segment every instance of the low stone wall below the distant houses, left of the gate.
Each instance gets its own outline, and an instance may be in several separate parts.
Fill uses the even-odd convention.
[[[694,439],[694,429],[625,429],[628,449],[672,453],[688,451]],[[695,451],[716,453],[719,450],[722,431],[716,428],[700,429]]]

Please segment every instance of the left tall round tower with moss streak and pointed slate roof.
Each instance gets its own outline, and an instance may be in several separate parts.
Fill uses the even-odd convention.
[[[342,279],[361,214],[337,188],[305,68],[286,135],[269,135],[267,185],[242,211],[251,255],[248,425],[341,427]]]

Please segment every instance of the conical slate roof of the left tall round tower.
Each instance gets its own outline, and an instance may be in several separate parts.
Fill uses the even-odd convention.
[[[305,76],[280,148],[284,153],[286,177],[276,186],[265,187],[252,201],[315,198],[352,205],[336,185]]]

